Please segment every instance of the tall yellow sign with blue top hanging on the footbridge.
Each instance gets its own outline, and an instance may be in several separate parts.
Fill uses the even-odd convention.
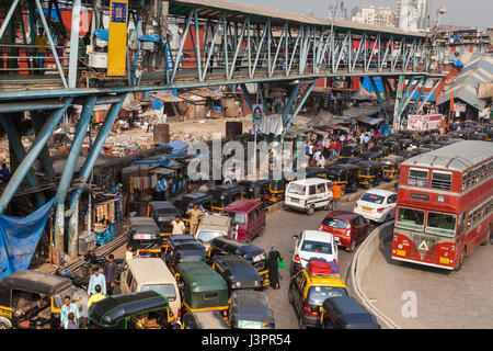
[[[107,43],[107,75],[125,76],[127,64],[128,0],[110,3],[110,33]]]

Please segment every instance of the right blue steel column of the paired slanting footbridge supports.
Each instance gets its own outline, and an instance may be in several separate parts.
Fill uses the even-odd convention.
[[[82,179],[82,186],[78,188],[74,192],[72,192],[72,195],[70,197],[69,202],[69,208],[71,212],[71,216],[69,219],[70,227],[68,233],[68,242],[69,242],[69,251],[76,256],[78,248],[78,225],[73,225],[78,223],[78,216],[79,214],[76,212],[76,207],[78,206],[80,195],[82,194],[82,188],[88,184],[89,178],[91,176],[92,169],[94,168],[95,161],[98,160],[98,157],[100,156],[101,149],[104,146],[104,143],[106,141],[106,138],[113,127],[113,124],[115,123],[116,116],[118,115],[119,110],[122,109],[122,105],[125,101],[126,94],[122,94],[119,97],[119,101],[117,103],[114,103],[112,107],[110,109],[106,118],[103,122],[103,125],[101,126],[101,131],[98,134],[96,139],[94,140],[94,144],[91,147],[91,150],[89,151],[89,156],[85,159],[84,165],[82,166],[82,169],[79,173],[79,178]],[[88,208],[88,211],[91,211],[91,208]],[[77,218],[74,218],[77,216]]]

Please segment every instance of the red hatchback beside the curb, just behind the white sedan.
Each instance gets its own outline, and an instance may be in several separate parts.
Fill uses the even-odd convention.
[[[332,234],[339,246],[352,252],[369,235],[370,223],[353,212],[334,211],[323,218],[319,230]]]

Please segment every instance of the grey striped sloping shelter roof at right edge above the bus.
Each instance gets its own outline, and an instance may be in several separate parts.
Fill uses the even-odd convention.
[[[481,83],[491,82],[493,82],[493,56],[485,54],[465,66],[451,88],[438,99],[437,104],[450,101],[454,92],[454,99],[460,99],[471,106],[482,110],[486,102],[478,98],[478,89]]]

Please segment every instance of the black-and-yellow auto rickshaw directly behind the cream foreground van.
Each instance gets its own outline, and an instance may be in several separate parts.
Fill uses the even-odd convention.
[[[140,257],[161,254],[161,235],[156,220],[150,217],[130,217],[128,246]]]

